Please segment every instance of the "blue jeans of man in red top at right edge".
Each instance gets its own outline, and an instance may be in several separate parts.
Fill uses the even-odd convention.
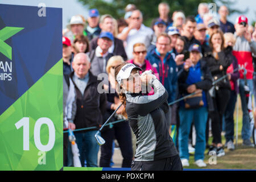
[[[253,93],[253,80],[247,80],[247,84],[250,88],[250,92]],[[250,139],[250,119],[249,119],[249,113],[247,110],[245,89],[243,88],[244,85],[245,85],[245,81],[243,79],[240,79],[239,80],[239,92],[240,92],[242,111],[243,111],[243,125],[242,125],[242,139],[243,140]]]

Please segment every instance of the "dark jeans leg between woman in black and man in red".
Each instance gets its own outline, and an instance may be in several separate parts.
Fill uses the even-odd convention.
[[[236,108],[237,94],[236,91],[230,92],[230,99],[225,111],[225,138],[226,142],[234,142],[234,110]]]

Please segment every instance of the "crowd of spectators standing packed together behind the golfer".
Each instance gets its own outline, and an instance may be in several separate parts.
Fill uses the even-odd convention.
[[[171,15],[169,5],[160,3],[159,17],[147,27],[142,11],[135,5],[127,5],[125,11],[123,19],[115,19],[91,9],[87,19],[72,16],[63,30],[64,92],[68,98],[64,130],[86,129],[74,132],[82,166],[111,167],[118,143],[122,167],[131,167],[134,142],[127,121],[102,130],[106,144],[101,146],[100,162],[100,147],[94,138],[121,103],[115,91],[114,67],[125,62],[140,67],[141,73],[151,70],[166,88],[168,103],[191,95],[170,105],[166,113],[170,134],[171,126],[177,126],[175,143],[183,167],[189,166],[191,152],[195,152],[196,165],[206,167],[205,155],[216,152],[217,157],[224,156],[225,147],[235,150],[233,115],[238,94],[243,145],[254,146],[245,86],[250,97],[255,96],[256,31],[248,18],[240,15],[236,22],[229,22],[226,6],[212,14],[207,3],[200,3],[195,16],[185,16],[182,10]],[[122,109],[112,122],[126,119]],[[221,137],[224,133],[225,141]],[[208,143],[210,134],[212,143]],[[64,166],[72,165],[65,133]]]

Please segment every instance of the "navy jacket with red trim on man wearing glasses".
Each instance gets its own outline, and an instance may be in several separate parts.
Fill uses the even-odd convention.
[[[152,67],[157,69],[159,73],[159,80],[168,92],[168,103],[174,101],[177,88],[177,71],[176,63],[171,53],[167,53],[166,61],[164,64],[162,58],[156,53],[156,49],[148,52],[146,59],[150,61]]]

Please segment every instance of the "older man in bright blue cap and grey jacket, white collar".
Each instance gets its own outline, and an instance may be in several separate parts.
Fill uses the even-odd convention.
[[[93,75],[98,76],[100,73],[106,73],[106,65],[110,57],[109,48],[114,42],[114,36],[111,32],[101,32],[98,38],[98,46],[95,50],[88,53],[91,60],[90,71]],[[108,85],[108,80],[104,79],[104,84]]]

